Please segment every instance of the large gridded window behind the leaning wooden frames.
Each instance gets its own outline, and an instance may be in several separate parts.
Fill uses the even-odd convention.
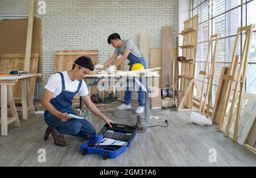
[[[214,71],[212,105],[217,93],[222,67],[232,60],[237,28],[256,23],[256,0],[191,0],[191,16],[199,14],[199,32],[196,55],[196,82],[200,89],[205,70],[210,35],[220,33]],[[240,38],[241,39],[241,38]],[[241,40],[244,40],[242,37]],[[214,46],[213,42],[213,46]],[[241,53],[241,43],[237,55]],[[210,59],[211,60],[211,59]],[[210,65],[210,64],[209,64]],[[208,67],[208,69],[210,66]],[[256,94],[256,29],[251,40],[249,67],[246,79],[247,92]]]

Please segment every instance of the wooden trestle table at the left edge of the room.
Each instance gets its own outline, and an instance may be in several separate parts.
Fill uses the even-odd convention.
[[[16,82],[21,81],[22,85],[22,116],[23,119],[27,119],[28,111],[32,110],[32,113],[35,112],[33,107],[32,98],[30,95],[30,85],[29,80],[31,77],[40,77],[41,74],[26,74],[26,75],[10,75],[10,76],[0,76],[0,85],[1,85],[1,134],[7,136],[8,125],[14,122],[15,127],[20,127],[18,114],[16,111],[12,86]],[[11,117],[7,117],[7,105],[10,105]]]

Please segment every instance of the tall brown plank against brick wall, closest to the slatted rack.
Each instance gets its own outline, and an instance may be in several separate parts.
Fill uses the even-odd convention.
[[[172,27],[162,27],[162,86],[172,84]]]

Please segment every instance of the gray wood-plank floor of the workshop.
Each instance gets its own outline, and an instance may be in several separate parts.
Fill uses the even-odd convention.
[[[119,104],[117,104],[119,105]],[[100,107],[100,109],[106,109]],[[116,115],[133,115],[136,105],[131,111],[114,110]],[[22,114],[19,118],[22,118]],[[67,147],[59,147],[53,143],[50,135],[44,140],[47,128],[43,114],[30,115],[27,121],[21,121],[21,127],[9,125],[8,136],[0,136],[0,166],[256,166],[256,156],[251,154],[223,133],[216,131],[217,126],[202,127],[189,121],[190,113],[177,112],[174,109],[151,110],[151,125],[169,127],[147,128],[138,133],[134,142],[123,154],[115,159],[103,160],[101,155],[82,156],[80,152],[81,138],[65,136]],[[134,114],[131,118],[114,118],[106,113],[115,123],[135,125]],[[92,115],[90,120],[100,131],[104,122]],[[146,121],[142,119],[146,126]],[[38,150],[46,150],[46,163],[38,162]],[[216,149],[217,162],[209,162],[209,150]]]

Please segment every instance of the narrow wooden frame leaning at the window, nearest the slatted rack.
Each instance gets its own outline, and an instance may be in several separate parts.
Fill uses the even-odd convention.
[[[220,34],[214,34],[214,35],[210,36],[210,41],[209,41],[209,46],[208,46],[208,54],[207,54],[207,63],[206,63],[206,66],[205,66],[205,71],[200,71],[199,72],[199,74],[204,75],[204,81],[203,81],[203,86],[202,86],[201,96],[200,96],[199,112],[204,115],[205,106],[207,104],[207,115],[206,115],[207,118],[209,117],[210,101],[211,101],[211,98],[212,98],[212,86],[213,86],[215,59],[216,59],[216,53],[217,53],[217,48],[218,48],[218,38],[219,37],[220,37]],[[212,57],[212,62],[211,62],[211,65],[210,65],[210,71],[207,74],[209,60],[210,60],[210,51],[212,50],[213,40],[215,40],[216,42],[215,42],[215,45],[214,45],[213,56],[211,56]],[[204,85],[205,85],[207,77],[208,77],[207,92],[205,93],[205,99],[203,101]],[[203,107],[203,109],[202,109],[202,107]]]

